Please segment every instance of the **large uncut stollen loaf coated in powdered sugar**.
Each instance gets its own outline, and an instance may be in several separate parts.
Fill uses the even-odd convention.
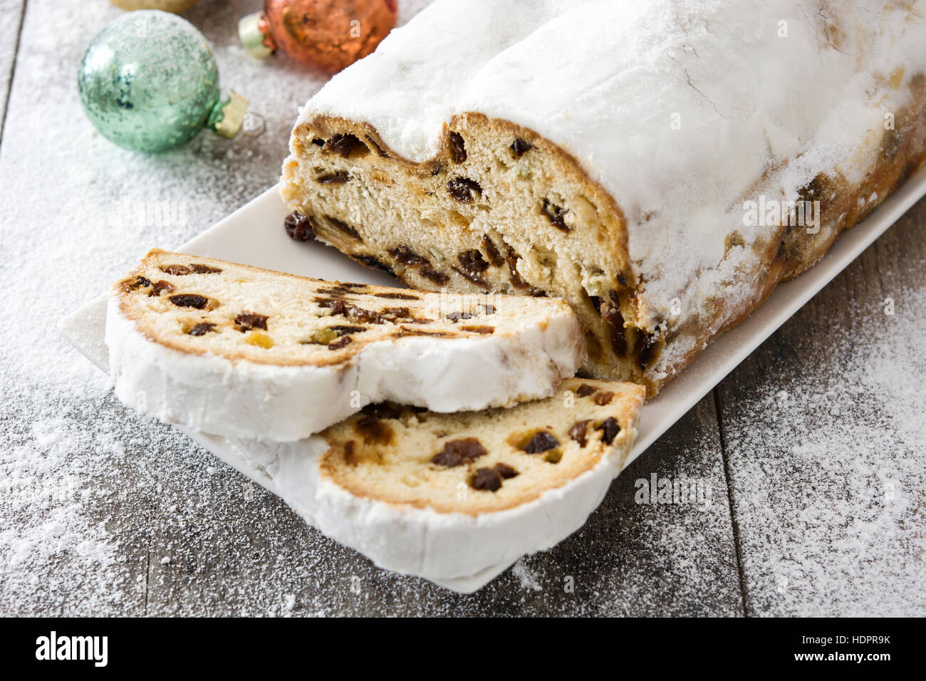
[[[282,195],[407,284],[565,298],[652,394],[922,164],[924,18],[443,0],[303,108]]]

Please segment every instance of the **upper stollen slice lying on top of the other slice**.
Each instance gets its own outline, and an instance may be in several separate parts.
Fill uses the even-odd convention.
[[[297,440],[369,402],[481,410],[582,365],[563,301],[342,284],[152,250],[113,285],[116,395],[217,435]]]

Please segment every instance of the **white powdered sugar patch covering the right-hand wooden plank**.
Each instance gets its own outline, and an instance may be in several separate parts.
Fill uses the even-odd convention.
[[[926,611],[926,288],[893,299],[894,333],[833,324],[813,380],[769,375],[725,423],[752,612]]]

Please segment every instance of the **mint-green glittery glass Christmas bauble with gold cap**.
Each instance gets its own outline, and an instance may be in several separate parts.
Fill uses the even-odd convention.
[[[233,137],[247,100],[219,93],[219,68],[202,33],[158,10],[125,14],[87,48],[78,74],[87,118],[136,151],[182,145],[204,127]]]

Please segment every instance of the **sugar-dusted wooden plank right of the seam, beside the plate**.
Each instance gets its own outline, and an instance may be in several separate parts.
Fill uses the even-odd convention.
[[[747,613],[926,612],[924,263],[926,200],[720,385]]]

